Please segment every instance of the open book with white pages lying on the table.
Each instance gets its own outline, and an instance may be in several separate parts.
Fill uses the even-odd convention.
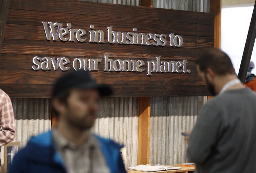
[[[154,172],[154,171],[166,171],[166,170],[175,170],[181,169],[181,167],[170,167],[165,165],[138,165],[135,167],[129,167],[129,169],[136,171],[144,171],[144,172]]]

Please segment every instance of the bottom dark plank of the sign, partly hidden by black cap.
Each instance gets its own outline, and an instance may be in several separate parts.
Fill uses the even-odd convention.
[[[0,84],[3,91],[15,98],[49,98],[52,86],[52,84]],[[110,85],[110,87],[114,92],[111,97],[211,95],[204,85],[190,85],[189,88],[186,85]]]

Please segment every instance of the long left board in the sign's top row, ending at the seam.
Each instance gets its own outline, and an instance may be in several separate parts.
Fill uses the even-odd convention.
[[[28,5],[29,4],[29,5]],[[78,0],[12,0],[11,9],[24,9],[38,12],[54,12],[62,14],[82,14],[94,16],[109,16],[130,19],[158,20],[157,8],[117,5],[109,3],[95,3]]]

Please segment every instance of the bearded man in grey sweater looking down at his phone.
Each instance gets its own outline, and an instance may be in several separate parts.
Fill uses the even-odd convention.
[[[200,109],[188,138],[187,156],[196,173],[255,172],[256,93],[244,87],[219,49],[207,50],[196,64],[215,96]]]

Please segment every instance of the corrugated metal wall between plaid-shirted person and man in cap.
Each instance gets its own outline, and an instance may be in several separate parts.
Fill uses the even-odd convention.
[[[24,147],[31,136],[51,129],[50,98],[11,98],[15,116],[16,135],[13,142]],[[4,164],[2,147],[1,161]],[[1,166],[3,172],[4,166]]]

